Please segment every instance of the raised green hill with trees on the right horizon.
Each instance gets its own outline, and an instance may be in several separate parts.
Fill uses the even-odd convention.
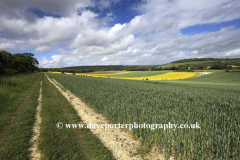
[[[157,68],[186,70],[190,69],[232,69],[239,68],[240,58],[218,59],[218,58],[193,58],[173,61],[168,64],[160,65]]]

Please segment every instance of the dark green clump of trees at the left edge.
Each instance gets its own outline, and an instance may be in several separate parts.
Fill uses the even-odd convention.
[[[38,71],[38,64],[32,53],[11,54],[0,50],[0,74]]]

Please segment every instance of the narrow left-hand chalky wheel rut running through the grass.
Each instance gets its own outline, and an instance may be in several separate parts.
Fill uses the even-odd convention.
[[[40,82],[38,106],[37,106],[37,112],[36,112],[36,121],[35,121],[35,124],[33,126],[33,137],[30,141],[30,142],[33,143],[33,145],[32,145],[31,148],[29,148],[29,150],[31,151],[30,157],[33,160],[41,159],[41,153],[37,148],[38,139],[39,139],[39,136],[40,136],[40,124],[42,122],[42,119],[41,119],[41,116],[40,116],[40,112],[41,112],[41,108],[42,108],[41,101],[42,101],[42,81]]]

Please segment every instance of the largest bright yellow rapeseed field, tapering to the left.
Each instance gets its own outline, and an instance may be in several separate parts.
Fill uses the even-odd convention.
[[[177,80],[185,79],[196,76],[198,73],[193,72],[169,72],[165,74],[159,74],[154,76],[145,76],[145,77],[110,77],[116,79],[132,79],[132,80]],[[109,78],[107,76],[102,76],[103,78]]]

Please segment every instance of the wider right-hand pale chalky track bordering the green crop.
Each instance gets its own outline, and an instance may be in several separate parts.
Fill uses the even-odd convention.
[[[56,88],[58,88],[63,96],[67,98],[85,124],[109,124],[109,122],[101,114],[97,114],[93,109],[88,107],[84,102],[82,102],[78,97],[74,96],[68,90],[63,90],[63,87],[57,81],[50,79],[48,76],[47,78],[52,84],[54,84]],[[113,156],[116,159],[142,159],[140,155],[136,155],[136,149],[140,147],[140,142],[134,140],[126,132],[121,131],[118,128],[105,130],[101,127],[90,128],[90,130],[106,147],[109,148],[109,150],[112,151]],[[157,154],[154,150],[145,155],[144,158],[153,160],[165,159],[162,154]]]

